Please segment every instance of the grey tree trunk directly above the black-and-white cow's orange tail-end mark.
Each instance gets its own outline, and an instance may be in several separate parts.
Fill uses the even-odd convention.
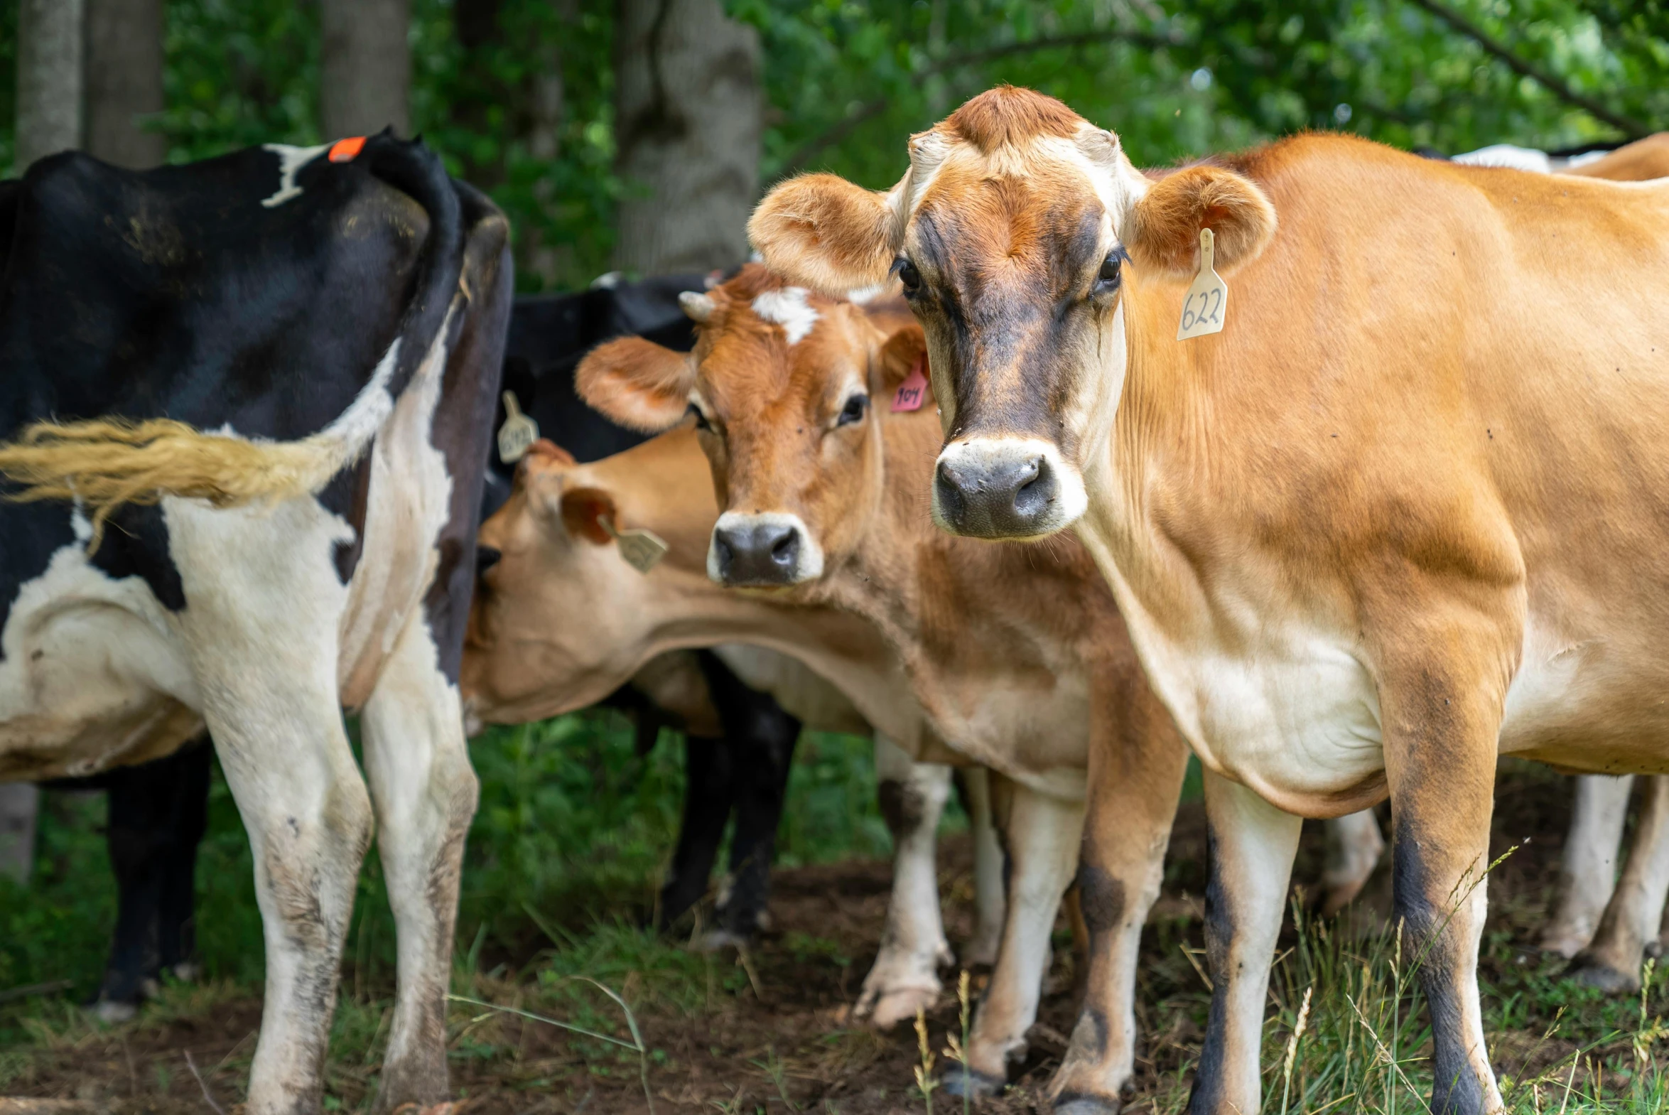
[[[324,0],[319,15],[324,137],[411,135],[411,0]]]

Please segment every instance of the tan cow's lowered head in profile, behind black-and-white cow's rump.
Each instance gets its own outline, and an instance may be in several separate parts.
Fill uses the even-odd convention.
[[[699,563],[714,516],[699,457],[676,441],[683,452],[649,442],[579,466],[539,441],[522,457],[511,497],[479,536],[461,676],[476,716],[524,723],[592,704],[663,649],[668,601],[706,584]],[[694,476],[688,464],[663,467],[668,457],[693,459]],[[644,522],[671,544],[649,574],[609,534]]]

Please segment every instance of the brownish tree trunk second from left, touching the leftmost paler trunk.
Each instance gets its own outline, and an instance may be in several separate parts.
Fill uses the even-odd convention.
[[[85,0],[87,150],[118,167],[155,167],[169,154],[142,127],[162,112],[162,0]]]

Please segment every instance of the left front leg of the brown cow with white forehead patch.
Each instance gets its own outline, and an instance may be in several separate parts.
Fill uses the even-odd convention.
[[[1008,916],[991,981],[968,1037],[966,1072],[951,1072],[951,1095],[995,1095],[1008,1067],[1025,1057],[1036,1022],[1050,931],[1060,898],[1078,866],[1083,803],[1063,801],[991,773],[993,798],[1008,851]],[[1005,801],[1006,798],[1006,801]]]

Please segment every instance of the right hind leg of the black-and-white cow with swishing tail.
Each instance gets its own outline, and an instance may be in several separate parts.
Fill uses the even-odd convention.
[[[401,633],[361,718],[399,976],[374,1112],[447,1097],[446,993],[477,781],[457,686],[422,616]]]

